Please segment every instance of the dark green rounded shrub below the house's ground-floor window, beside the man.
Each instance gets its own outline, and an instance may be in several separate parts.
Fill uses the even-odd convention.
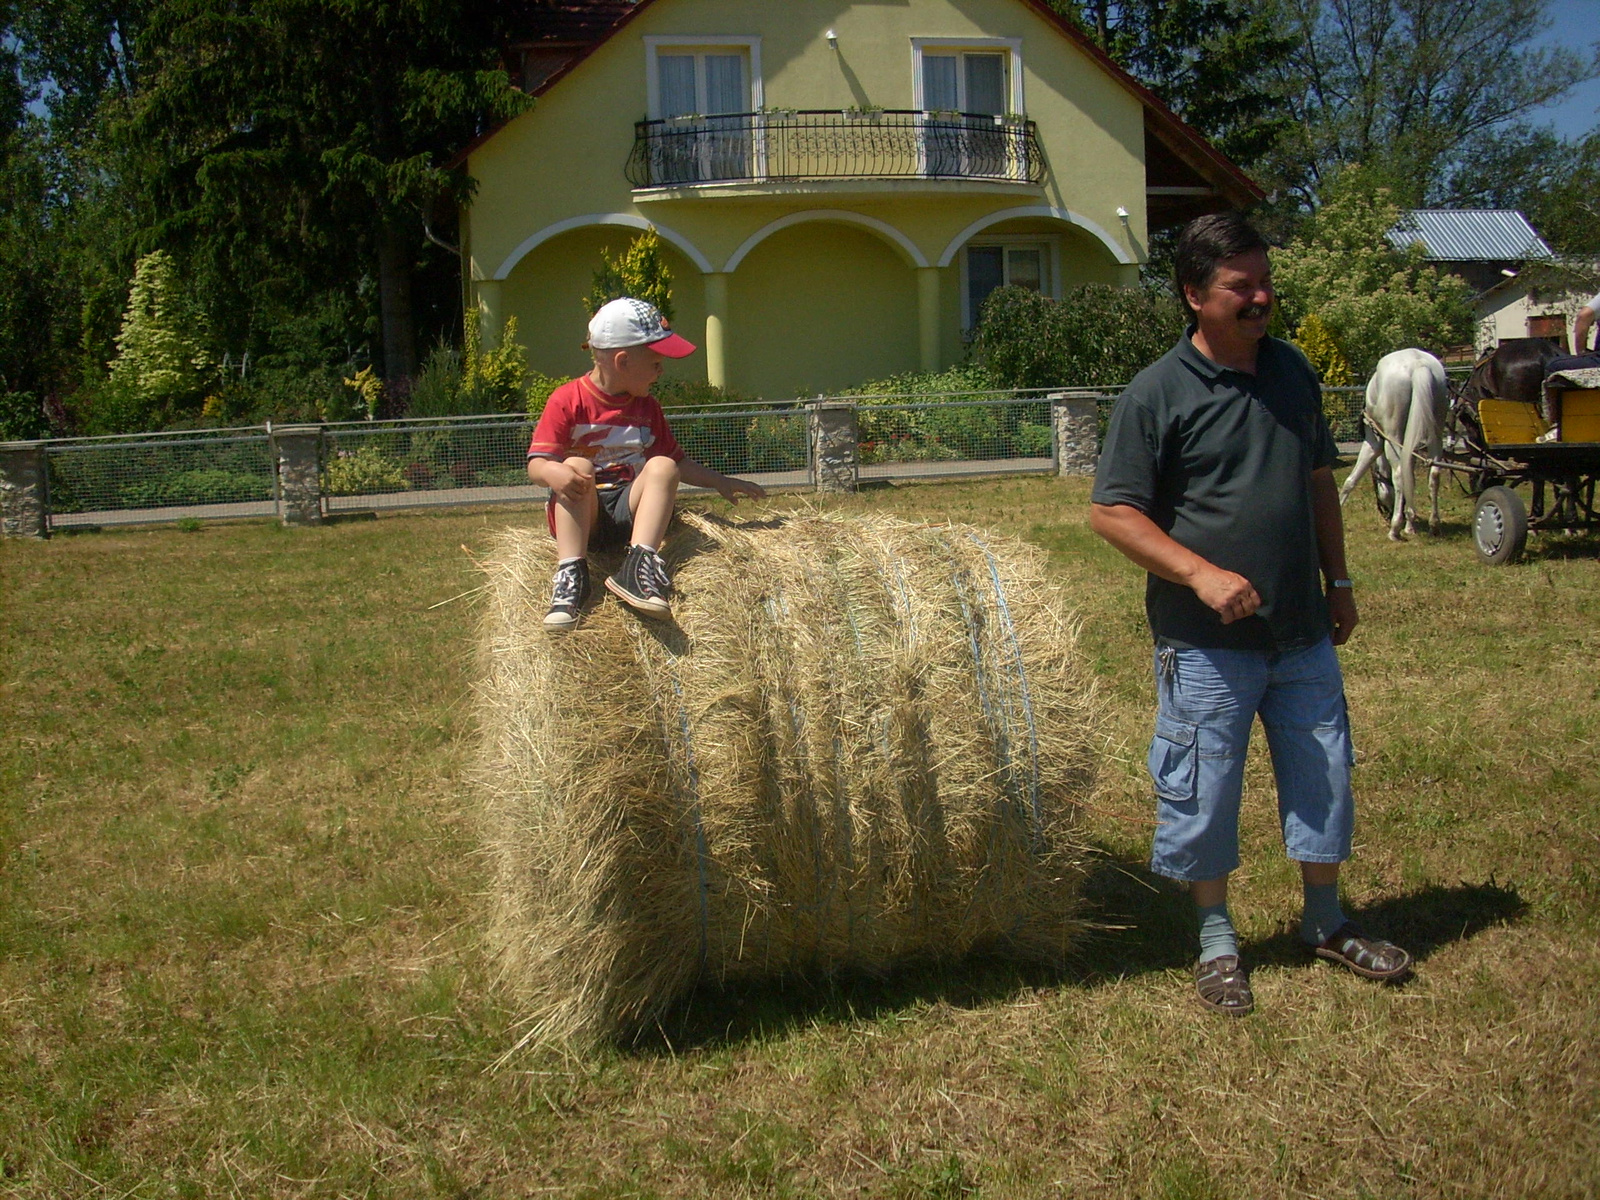
[[[1083,283],[1053,301],[1008,286],[984,301],[973,350],[1002,387],[1096,387],[1128,382],[1182,328],[1158,288]]]

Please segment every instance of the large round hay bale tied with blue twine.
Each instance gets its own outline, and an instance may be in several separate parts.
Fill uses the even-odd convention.
[[[549,534],[490,557],[480,766],[525,1042],[634,1035],[702,978],[1059,963],[1098,739],[1040,554],[792,512],[683,514],[666,558],[675,622],[605,598],[550,635]]]

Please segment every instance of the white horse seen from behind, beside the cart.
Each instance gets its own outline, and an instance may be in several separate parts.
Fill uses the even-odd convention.
[[[1339,504],[1368,469],[1378,480],[1379,499],[1389,496],[1394,517],[1389,520],[1389,536],[1400,541],[1400,526],[1408,536],[1416,536],[1416,453],[1426,448],[1429,462],[1437,462],[1443,453],[1445,418],[1450,413],[1450,390],[1445,384],[1445,365],[1427,350],[1395,350],[1378,360],[1378,370],[1366,381],[1366,440],[1355,459],[1355,470],[1339,490]],[[1379,451],[1381,443],[1381,451]],[[1430,466],[1427,490],[1434,501],[1429,533],[1438,533],[1438,480],[1443,470]],[[1395,482],[1400,494],[1395,496]]]

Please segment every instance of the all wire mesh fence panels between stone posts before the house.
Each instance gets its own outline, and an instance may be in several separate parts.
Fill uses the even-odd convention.
[[[1074,389],[1093,397],[1099,429],[1120,387]],[[816,485],[814,405],[854,410],[859,478],[934,478],[1048,472],[1056,466],[1051,395],[1042,389],[936,395],[853,395],[771,405],[706,405],[669,411],[685,453],[768,488]],[[1325,389],[1334,438],[1360,438],[1363,389]],[[56,528],[166,522],[182,517],[280,514],[272,427],[194,430],[45,443],[50,523]],[[533,502],[526,474],[533,422],[522,416],[333,422],[320,438],[320,504],[326,514]]]

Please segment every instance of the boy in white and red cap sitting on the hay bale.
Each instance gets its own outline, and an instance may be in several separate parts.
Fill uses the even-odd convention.
[[[645,301],[614,299],[589,322],[594,370],[550,394],[528,443],[528,478],[550,490],[546,520],[560,563],[549,629],[570,629],[589,600],[589,544],[627,546],[608,590],[637,613],[667,618],[672,579],[661,562],[678,483],[715,488],[723,499],[762,498],[757,483],[712,470],[678,446],[650,394],[667,358],[694,346],[672,333]]]

